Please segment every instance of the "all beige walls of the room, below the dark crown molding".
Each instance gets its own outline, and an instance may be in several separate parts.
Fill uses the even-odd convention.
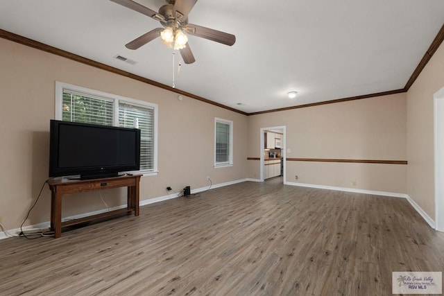
[[[0,216],[19,227],[48,175],[55,81],[159,105],[159,174],[142,178],[141,200],[246,177],[259,178],[260,128],[287,127],[287,157],[408,160],[409,165],[287,162],[287,182],[408,193],[434,218],[433,95],[444,86],[444,47],[407,94],[244,116],[107,71],[0,39]],[[214,117],[234,121],[234,166],[213,168]],[[298,175],[298,180],[294,179]],[[354,185],[355,184],[355,185]],[[103,191],[110,207],[123,190]],[[25,225],[49,220],[49,190]],[[65,198],[63,215],[103,209],[96,193]]]

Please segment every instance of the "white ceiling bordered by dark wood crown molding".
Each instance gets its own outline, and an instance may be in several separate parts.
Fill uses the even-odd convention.
[[[164,0],[137,0],[155,11]],[[189,22],[236,35],[189,36],[196,62],[178,70],[160,24],[108,0],[0,0],[0,28],[176,89],[260,112],[402,89],[444,22],[443,0],[200,0]],[[122,55],[137,62],[114,58]],[[290,99],[287,92],[297,91]],[[237,105],[242,103],[244,105]]]

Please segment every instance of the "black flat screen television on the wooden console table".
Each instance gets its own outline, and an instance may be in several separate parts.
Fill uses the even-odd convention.
[[[140,130],[51,120],[49,177],[115,177],[140,168]]]

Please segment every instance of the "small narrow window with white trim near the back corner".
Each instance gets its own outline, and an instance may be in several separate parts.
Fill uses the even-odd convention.
[[[233,164],[233,122],[214,119],[214,166]]]

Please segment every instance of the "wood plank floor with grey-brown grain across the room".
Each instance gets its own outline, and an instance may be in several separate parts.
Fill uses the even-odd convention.
[[[391,295],[393,271],[444,270],[444,234],[407,200],[278,181],[4,239],[0,295]]]

